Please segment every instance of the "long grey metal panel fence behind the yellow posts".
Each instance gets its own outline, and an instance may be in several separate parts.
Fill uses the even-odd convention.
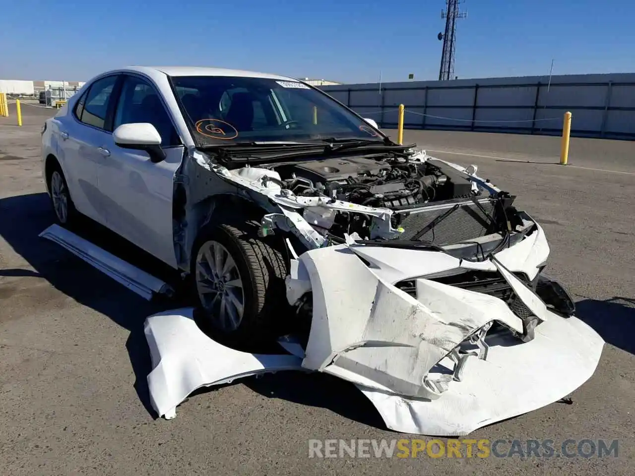
[[[635,139],[635,74],[519,77],[322,86],[382,128],[556,135],[566,111],[572,135]]]

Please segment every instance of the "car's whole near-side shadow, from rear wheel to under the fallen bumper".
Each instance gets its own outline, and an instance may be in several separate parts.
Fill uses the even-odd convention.
[[[45,228],[53,224],[54,218],[46,193],[0,199],[0,235],[34,269],[4,269],[0,270],[0,276],[43,277],[51,286],[70,298],[109,317],[117,325],[130,331],[126,350],[135,373],[135,390],[148,413],[157,418],[150,404],[147,386],[147,375],[152,370],[152,362],[145,340],[144,322],[149,315],[187,305],[184,293],[179,293],[175,300],[146,301],[128,291],[58,244],[39,237]],[[156,258],[91,220],[81,220],[80,225],[81,228],[73,231],[88,241],[178,287],[178,277]],[[281,353],[281,348],[276,343],[266,347],[243,350]],[[290,371],[265,374],[258,379],[243,378],[236,382],[244,383],[254,392],[269,398],[285,399],[306,406],[326,407],[345,418],[385,428],[370,400],[366,399],[352,383],[333,376]],[[190,397],[218,388],[222,387],[197,390]]]

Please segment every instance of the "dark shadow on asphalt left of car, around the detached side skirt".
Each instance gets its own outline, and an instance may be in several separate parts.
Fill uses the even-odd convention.
[[[54,218],[46,193],[0,199],[0,235],[34,269],[4,269],[0,270],[0,276],[43,277],[70,298],[128,329],[130,335],[126,349],[135,373],[135,390],[147,411],[154,415],[146,380],[152,363],[145,340],[144,321],[148,315],[166,310],[166,303],[141,298],[61,246],[39,237],[44,228],[53,224]],[[158,270],[160,265],[152,264],[133,245],[122,243],[119,237],[97,223],[82,219],[81,230],[84,238],[98,242],[100,246],[109,243],[104,248],[111,253],[125,256],[124,259],[156,274],[165,274],[164,270]],[[137,258],[131,259],[134,256]]]

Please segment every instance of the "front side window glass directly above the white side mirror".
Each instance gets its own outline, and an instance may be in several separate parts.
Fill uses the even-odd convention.
[[[152,124],[161,135],[161,147],[181,144],[177,130],[172,124],[156,89],[144,79],[126,76],[119,96],[113,127],[116,129],[121,124],[135,122]]]

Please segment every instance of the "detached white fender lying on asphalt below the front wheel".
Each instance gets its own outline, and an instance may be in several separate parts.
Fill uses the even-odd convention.
[[[177,405],[200,387],[283,370],[302,370],[295,355],[241,352],[211,340],[194,322],[192,308],[154,314],[145,320],[152,371],[150,402],[159,416],[177,416]]]

